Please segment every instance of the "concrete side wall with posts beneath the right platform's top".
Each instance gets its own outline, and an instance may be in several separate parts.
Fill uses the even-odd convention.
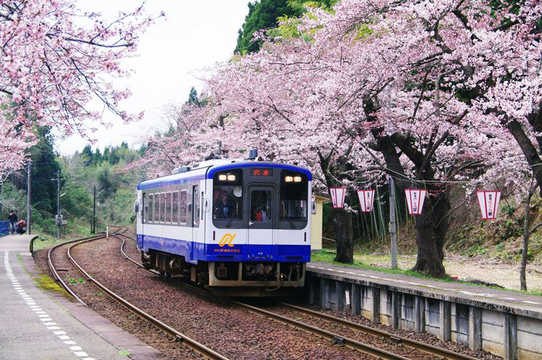
[[[307,286],[309,302],[324,309],[352,309],[375,323],[427,331],[507,360],[542,359],[542,319],[513,309],[488,309],[481,302],[317,272],[307,272]]]

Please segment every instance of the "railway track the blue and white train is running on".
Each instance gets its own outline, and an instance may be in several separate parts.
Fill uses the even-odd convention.
[[[126,239],[130,239],[130,240],[134,240],[134,241],[135,241],[135,239],[133,237],[129,237],[128,235],[124,235],[124,234],[116,234],[115,236],[118,237],[118,239],[122,240],[121,254],[123,255],[123,257],[128,259],[128,261],[132,262],[136,266],[138,266],[138,267],[140,267],[142,269],[145,269],[143,267],[143,265],[140,264],[140,262],[138,262],[137,260],[132,259],[131,257],[129,257],[128,254],[126,254],[126,252],[124,251],[124,245],[126,243]],[[159,272],[156,272],[154,270],[148,270],[148,269],[145,269],[145,270],[148,271],[148,272],[152,272],[155,275],[160,276]],[[201,289],[200,287],[195,287],[192,284],[186,284],[185,282],[182,282],[182,281],[180,281],[178,279],[172,279],[172,280],[175,281],[175,284],[178,284],[178,285],[180,285],[180,287],[183,287],[185,289],[189,289],[190,291],[197,292],[198,294],[203,294],[206,297],[215,297],[215,295],[211,294],[210,292],[208,292],[205,289]],[[221,298],[221,299],[223,299],[223,298]],[[325,339],[329,339],[329,340],[337,342],[339,344],[344,344],[346,346],[352,347],[353,349],[357,349],[359,351],[362,351],[365,354],[370,354],[372,356],[375,356],[375,357],[377,357],[377,359],[389,359],[389,360],[399,360],[399,359],[400,360],[406,360],[406,359],[409,359],[409,358],[407,358],[405,356],[394,354],[392,352],[389,352],[389,351],[386,351],[386,350],[383,350],[383,349],[379,349],[379,348],[377,348],[375,346],[371,346],[369,344],[364,344],[361,341],[357,341],[355,339],[351,339],[351,338],[346,337],[346,336],[341,336],[340,334],[336,334],[336,333],[334,333],[332,331],[327,331],[327,330],[321,329],[321,328],[319,328],[317,326],[313,326],[311,324],[306,324],[305,322],[300,322],[297,319],[292,319],[291,317],[286,317],[286,316],[284,316],[282,314],[277,314],[275,312],[270,312],[270,311],[268,311],[266,309],[262,309],[260,307],[255,307],[255,306],[252,306],[250,304],[245,304],[244,302],[237,302],[237,301],[234,301],[234,300],[231,300],[231,299],[227,299],[226,301],[230,302],[231,304],[235,304],[237,307],[242,307],[243,309],[247,309],[247,311],[250,311],[252,313],[260,314],[260,315],[265,316],[265,317],[270,317],[272,319],[277,320],[278,322],[282,322],[282,323],[288,324],[290,326],[295,326],[298,329],[308,331],[308,332],[310,332],[312,334],[316,334],[317,336],[322,336]],[[354,331],[361,332],[362,334],[367,334],[367,335],[371,335],[371,336],[379,336],[379,337],[382,337],[382,338],[387,339],[389,341],[394,341],[394,342],[400,343],[403,346],[405,346],[406,348],[421,351],[422,353],[429,354],[430,356],[436,356],[438,359],[476,360],[476,358],[474,358],[472,356],[468,356],[468,355],[465,355],[465,354],[459,354],[459,353],[456,353],[454,351],[449,351],[447,349],[441,349],[441,348],[439,348],[437,346],[433,346],[433,345],[430,345],[430,344],[424,344],[424,343],[422,343],[420,341],[415,341],[415,340],[408,339],[408,338],[403,337],[403,336],[397,336],[395,334],[390,334],[390,333],[388,333],[386,331],[382,331],[382,330],[379,330],[379,329],[374,329],[374,328],[372,328],[370,326],[364,326],[362,324],[358,324],[358,323],[355,323],[355,322],[350,322],[349,320],[341,319],[339,317],[333,317],[331,315],[324,314],[322,312],[316,312],[316,311],[314,311],[312,309],[306,309],[304,307],[298,307],[296,305],[287,304],[285,302],[278,302],[278,304],[280,304],[282,307],[285,307],[286,309],[289,309],[291,311],[300,312],[302,314],[309,315],[310,317],[315,317],[317,319],[322,319],[325,322],[332,322],[334,324],[339,324],[341,326],[345,326],[345,327],[347,327],[349,329],[352,329]]]

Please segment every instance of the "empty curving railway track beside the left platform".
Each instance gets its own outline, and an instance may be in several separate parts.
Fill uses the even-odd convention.
[[[116,237],[118,235],[123,235],[122,232],[126,232],[126,230],[127,230],[126,228],[119,227],[118,230],[116,230],[115,232],[111,232],[110,236]],[[53,264],[53,261],[52,261],[52,258],[51,258],[51,254],[53,254],[54,251],[58,250],[62,246],[66,246],[66,245],[71,244],[71,245],[69,245],[68,250],[66,252],[66,254],[68,256],[68,259],[70,259],[70,262],[73,264],[73,266],[76,267],[76,269],[78,269],[78,271],[81,272],[81,274],[83,274],[83,276],[86,278],[86,281],[91,282],[92,284],[94,284],[96,287],[98,287],[98,289],[100,289],[105,294],[107,294],[109,297],[111,297],[116,302],[118,302],[118,304],[121,304],[121,306],[126,307],[126,309],[133,312],[133,314],[136,314],[141,319],[145,320],[146,322],[149,322],[150,324],[152,324],[156,328],[158,328],[161,331],[165,332],[165,334],[168,334],[169,336],[171,336],[175,341],[179,341],[179,342],[189,346],[191,349],[198,352],[199,354],[202,354],[203,356],[207,357],[208,359],[228,360],[226,356],[223,356],[222,354],[218,354],[218,352],[214,351],[213,349],[210,349],[207,346],[201,344],[200,342],[195,341],[194,339],[190,338],[189,336],[186,336],[185,334],[181,333],[180,331],[178,331],[176,329],[173,329],[173,327],[168,326],[167,324],[165,324],[163,322],[160,322],[160,320],[156,319],[155,317],[151,316],[147,312],[144,312],[142,309],[139,309],[135,305],[133,305],[130,302],[126,301],[126,299],[123,299],[118,294],[111,291],[111,289],[108,289],[108,287],[105,287],[103,284],[101,284],[96,279],[91,277],[91,275],[88,274],[88,272],[86,272],[85,269],[83,269],[83,267],[81,267],[81,265],[79,265],[76,262],[76,260],[73,259],[73,257],[71,256],[71,250],[73,249],[73,247],[84,244],[86,242],[91,242],[93,240],[103,239],[104,237],[106,237],[106,235],[96,235],[96,236],[93,236],[93,237],[85,237],[83,239],[77,239],[77,240],[71,240],[71,241],[68,241],[68,242],[63,242],[62,244],[51,247],[51,249],[49,250],[49,252],[47,254],[49,269],[51,269],[51,272],[53,273],[53,276],[56,278],[58,283],[61,284],[61,287],[63,287],[63,289],[66,289],[66,291],[69,294],[71,294],[73,297],[75,297],[79,302],[81,302],[81,304],[86,306],[86,304],[79,297],[77,297],[76,294],[74,294],[71,291],[71,289],[67,286],[67,284],[65,282],[63,282],[61,277],[58,275],[58,272],[56,271],[56,268],[54,267],[54,264]]]

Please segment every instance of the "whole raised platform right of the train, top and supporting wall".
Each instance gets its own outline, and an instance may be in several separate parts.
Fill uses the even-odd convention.
[[[506,360],[542,359],[542,297],[326,262],[307,264],[306,286],[308,301],[322,309],[351,309]]]

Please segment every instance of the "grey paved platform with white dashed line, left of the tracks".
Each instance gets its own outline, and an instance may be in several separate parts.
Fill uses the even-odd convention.
[[[36,287],[32,237],[0,237],[0,359],[160,359],[91,309]]]

